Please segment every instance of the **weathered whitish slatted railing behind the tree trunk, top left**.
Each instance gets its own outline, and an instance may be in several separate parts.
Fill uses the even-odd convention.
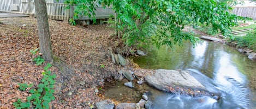
[[[74,6],[71,5],[69,9],[66,9],[67,4],[63,4],[63,0],[59,0],[59,3],[54,3],[55,0],[46,0],[46,8],[48,18],[53,20],[67,21],[73,18]],[[17,8],[16,10],[12,10]],[[35,16],[35,7],[33,0],[0,0],[0,11],[8,12],[22,12],[25,15],[32,17]],[[114,15],[114,11],[111,8],[96,8],[96,19],[109,18],[110,15]],[[85,15],[79,15],[79,20],[91,20]]]

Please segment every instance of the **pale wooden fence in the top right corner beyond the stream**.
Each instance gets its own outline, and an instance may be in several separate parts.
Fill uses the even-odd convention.
[[[250,17],[256,20],[256,6],[255,7],[234,7],[233,14],[242,17]]]

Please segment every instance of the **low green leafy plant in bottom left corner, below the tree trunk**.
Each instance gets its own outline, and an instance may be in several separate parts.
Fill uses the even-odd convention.
[[[49,103],[51,100],[54,100],[55,97],[53,97],[54,92],[54,84],[56,75],[51,74],[51,71],[49,68],[52,65],[50,63],[47,63],[47,66],[44,67],[44,72],[42,74],[44,75],[44,78],[41,79],[41,83],[37,86],[37,89],[32,88],[29,93],[31,95],[27,97],[27,102],[21,102],[20,99],[17,100],[17,102],[14,102],[14,107],[16,108],[29,108],[31,105],[34,105],[35,108],[49,108]],[[32,85],[27,84],[19,84],[22,86],[20,89],[22,91],[25,91],[26,87],[32,87]]]

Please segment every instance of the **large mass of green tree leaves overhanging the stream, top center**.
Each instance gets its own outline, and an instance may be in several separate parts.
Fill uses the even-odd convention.
[[[79,14],[94,16],[97,4],[112,5],[121,20],[117,22],[117,29],[123,31],[123,40],[128,45],[153,42],[158,47],[163,44],[172,46],[182,44],[183,40],[196,43],[196,37],[182,31],[184,22],[205,23],[212,25],[213,31],[229,34],[230,27],[237,21],[248,19],[231,14],[228,3],[233,0],[67,0],[66,3],[76,6],[74,19]]]

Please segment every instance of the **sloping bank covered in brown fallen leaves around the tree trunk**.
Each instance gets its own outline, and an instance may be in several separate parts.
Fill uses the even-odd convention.
[[[33,83],[35,88],[43,77],[46,62],[36,66],[32,61],[35,55],[29,52],[39,48],[35,18],[0,18],[0,22],[0,108],[14,108],[13,102],[29,95],[28,91],[20,91],[17,84]],[[106,24],[89,28],[53,20],[49,24],[56,61],[51,70],[57,74],[58,82],[56,100],[51,106],[89,108],[100,100],[94,90],[104,84],[105,77],[117,73],[119,67],[108,57],[108,47],[118,45],[110,37],[114,31]]]

